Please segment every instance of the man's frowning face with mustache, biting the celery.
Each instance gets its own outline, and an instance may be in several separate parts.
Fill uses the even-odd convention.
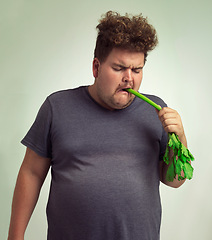
[[[102,63],[95,58],[93,61],[95,82],[89,87],[91,96],[109,110],[129,106],[135,96],[123,89],[133,88],[138,91],[143,66],[144,53],[118,48],[114,48]]]

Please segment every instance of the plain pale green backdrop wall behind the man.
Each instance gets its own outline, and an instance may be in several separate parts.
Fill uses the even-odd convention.
[[[7,236],[25,152],[20,140],[47,95],[93,82],[95,26],[108,10],[143,13],[156,27],[160,44],[148,57],[140,90],[161,96],[178,110],[196,157],[193,180],[179,189],[161,185],[161,239],[211,239],[211,8],[210,0],[1,1],[0,239]],[[46,238],[49,179],[27,240]]]

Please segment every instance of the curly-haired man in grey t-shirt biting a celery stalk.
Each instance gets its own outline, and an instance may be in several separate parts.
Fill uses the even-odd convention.
[[[56,92],[42,105],[22,140],[20,168],[8,240],[23,240],[39,192],[51,167],[47,205],[48,240],[157,240],[159,181],[166,132],[186,146],[179,114],[156,112],[124,89],[138,90],[147,54],[157,45],[142,16],[108,12],[97,26],[91,86]]]

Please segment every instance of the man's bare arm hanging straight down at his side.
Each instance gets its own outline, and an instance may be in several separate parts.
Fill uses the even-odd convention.
[[[50,159],[27,148],[13,196],[8,240],[24,240],[24,233],[50,167]]]

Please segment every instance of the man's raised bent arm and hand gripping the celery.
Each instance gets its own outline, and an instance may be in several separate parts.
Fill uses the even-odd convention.
[[[173,133],[177,134],[179,137],[179,140],[182,142],[182,144],[185,147],[187,147],[187,140],[186,140],[186,136],[184,133],[183,124],[182,124],[181,117],[178,114],[178,112],[171,108],[165,107],[165,108],[162,108],[158,112],[158,117],[159,117],[160,121],[162,122],[162,125],[163,125],[165,131],[167,133],[173,132]],[[170,154],[170,159],[172,158],[172,155],[173,155],[173,153]],[[171,164],[171,161],[170,161],[170,164]],[[167,181],[166,173],[167,173],[169,165],[167,165],[164,161],[160,162],[160,164],[159,164],[160,180],[161,180],[161,182],[163,182],[164,184],[166,184],[170,187],[178,188],[185,182],[185,179],[180,180],[180,181],[178,181],[178,179],[174,179],[173,182]]]

